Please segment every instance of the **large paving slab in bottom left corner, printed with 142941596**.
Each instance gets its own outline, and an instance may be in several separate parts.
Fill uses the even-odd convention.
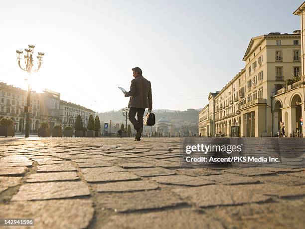
[[[37,229],[84,229],[93,219],[92,205],[91,200],[78,199],[18,201],[0,204],[0,213],[1,218],[34,218]],[[7,227],[12,228],[23,227]]]

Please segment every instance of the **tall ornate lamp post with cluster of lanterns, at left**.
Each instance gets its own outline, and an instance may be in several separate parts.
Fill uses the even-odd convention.
[[[40,69],[41,66],[41,62],[42,62],[42,56],[44,55],[43,52],[38,52],[37,57],[37,61],[38,61],[38,67],[37,69],[32,69],[33,67],[33,52],[34,52],[34,45],[29,44],[28,45],[29,48],[25,48],[25,55],[24,55],[24,63],[25,63],[25,67],[21,67],[20,64],[20,60],[21,60],[21,54],[23,53],[23,51],[20,50],[16,50],[17,53],[17,61],[18,61],[18,65],[20,67],[21,70],[26,71],[29,75],[32,72],[37,72]],[[28,80],[28,87],[27,87],[27,107],[24,109],[24,112],[26,112],[26,123],[25,123],[25,137],[28,138],[29,137],[29,107],[31,106],[31,84]]]

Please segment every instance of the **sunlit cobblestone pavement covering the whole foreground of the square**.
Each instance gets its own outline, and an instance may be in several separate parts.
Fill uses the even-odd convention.
[[[0,218],[39,229],[304,228],[304,169],[183,168],[179,156],[178,138],[0,138]]]

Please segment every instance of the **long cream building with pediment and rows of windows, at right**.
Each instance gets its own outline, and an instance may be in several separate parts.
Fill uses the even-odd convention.
[[[226,137],[274,136],[279,131],[281,120],[281,117],[276,118],[273,112],[278,109],[274,107],[277,101],[274,96],[281,94],[279,91],[286,90],[289,79],[300,76],[300,56],[300,30],[291,34],[271,32],[253,37],[243,57],[245,68],[219,93],[215,96],[209,95],[208,107],[199,114],[201,134],[221,134]],[[297,85],[290,87],[295,88]],[[302,97],[298,99],[303,101]],[[291,99],[290,105],[295,100],[299,101],[298,99]],[[281,104],[281,109],[283,106]],[[293,109],[294,107],[290,108],[287,114],[283,114],[286,115],[286,120],[293,120],[291,117],[295,113],[298,114],[296,118],[300,116],[300,108],[296,112]],[[208,112],[209,116],[203,115],[204,112]],[[203,118],[205,120],[202,120]],[[286,126],[287,131],[297,131],[297,125],[295,123]],[[203,126],[206,126],[205,129]]]

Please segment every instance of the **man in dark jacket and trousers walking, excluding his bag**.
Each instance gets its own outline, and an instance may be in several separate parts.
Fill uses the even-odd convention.
[[[131,82],[130,91],[124,94],[125,97],[130,96],[128,119],[137,131],[135,141],[140,141],[145,109],[152,110],[152,85],[143,77],[141,68],[135,67],[132,70],[135,78]],[[136,114],[138,120],[135,118]]]

